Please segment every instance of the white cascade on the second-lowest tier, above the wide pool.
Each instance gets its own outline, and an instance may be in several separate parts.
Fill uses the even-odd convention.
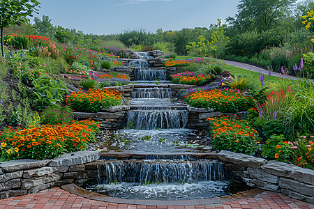
[[[188,111],[147,107],[128,111],[127,121],[133,121],[133,128],[139,130],[186,128]]]

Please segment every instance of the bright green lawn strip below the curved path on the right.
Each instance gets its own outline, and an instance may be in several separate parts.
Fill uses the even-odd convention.
[[[260,77],[258,75],[258,72],[254,72],[251,70],[246,70],[244,68],[238,68],[232,65],[225,65],[225,70],[227,70],[228,72],[230,72],[232,75],[241,75],[241,76],[247,76],[250,77],[253,82],[257,82],[258,84],[260,84]],[[269,77],[269,75],[264,75],[265,76],[265,84],[268,84],[271,81],[277,80],[277,79],[281,79],[280,77],[276,77],[276,76],[271,76]]]

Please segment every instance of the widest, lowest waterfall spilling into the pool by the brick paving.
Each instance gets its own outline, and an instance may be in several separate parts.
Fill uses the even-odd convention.
[[[101,164],[102,183],[176,183],[229,180],[230,173],[220,162],[119,160]]]

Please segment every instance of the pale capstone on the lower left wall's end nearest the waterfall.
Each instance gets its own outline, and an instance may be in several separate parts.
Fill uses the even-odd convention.
[[[96,151],[78,151],[74,153],[66,153],[52,160],[50,167],[73,166],[76,164],[85,164],[98,160],[100,152]]]

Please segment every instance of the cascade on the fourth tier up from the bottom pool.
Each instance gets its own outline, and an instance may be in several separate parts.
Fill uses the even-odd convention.
[[[167,80],[167,70],[147,68],[134,70],[136,81],[165,81]]]

